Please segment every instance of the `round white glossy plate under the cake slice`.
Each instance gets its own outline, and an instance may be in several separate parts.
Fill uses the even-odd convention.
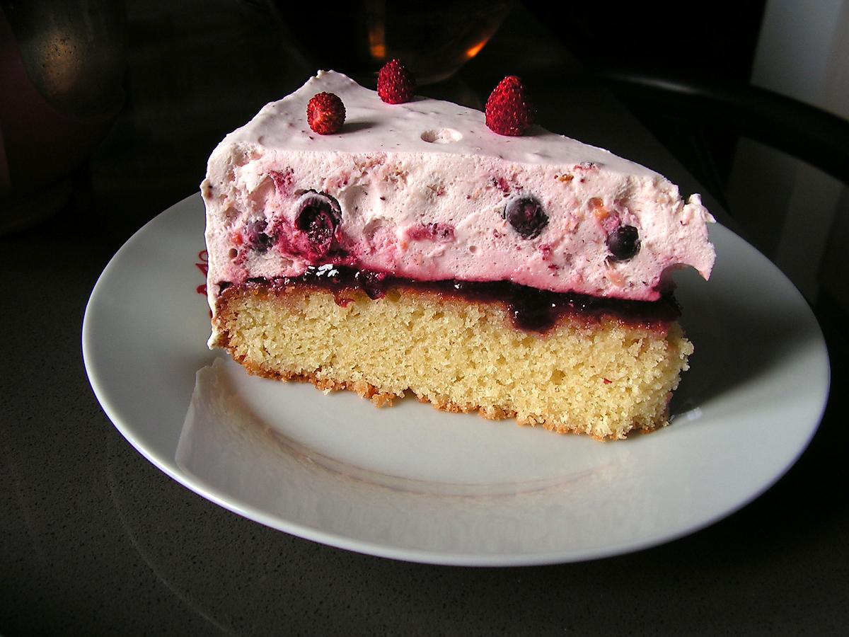
[[[692,369],[672,426],[616,443],[250,377],[205,347],[199,196],[104,270],[86,369],[127,440],[178,482],[252,520],[402,560],[519,565],[638,550],[745,505],[793,464],[829,386],[818,324],[790,282],[711,228],[709,283],[678,277]]]

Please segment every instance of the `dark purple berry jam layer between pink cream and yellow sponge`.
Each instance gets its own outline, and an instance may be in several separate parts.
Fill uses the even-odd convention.
[[[510,319],[516,329],[541,334],[551,330],[564,318],[592,322],[608,317],[625,324],[665,330],[666,326],[681,314],[672,294],[662,296],[659,301],[627,301],[574,292],[537,290],[509,281],[418,281],[330,264],[307,268],[299,277],[248,279],[243,287],[273,292],[293,286],[329,290],[340,305],[350,302],[345,293],[352,290],[362,290],[374,300],[382,298],[389,290],[394,289],[436,293],[466,302],[499,302],[508,307]],[[220,291],[224,293],[225,290],[237,287],[239,286],[222,283]]]

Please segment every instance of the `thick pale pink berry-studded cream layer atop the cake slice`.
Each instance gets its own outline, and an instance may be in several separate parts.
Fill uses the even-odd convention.
[[[346,107],[333,135],[306,123],[307,102],[323,91]],[[699,195],[682,200],[644,166],[542,127],[504,137],[458,104],[385,104],[334,71],[224,138],[201,193],[213,311],[222,283],[299,276],[321,262],[653,301],[670,270],[707,279],[715,258]],[[299,217],[317,193],[338,217],[329,251],[309,249],[318,231]],[[541,228],[511,223],[509,206],[527,201]],[[610,237],[624,227],[635,228],[637,251],[617,258]]]

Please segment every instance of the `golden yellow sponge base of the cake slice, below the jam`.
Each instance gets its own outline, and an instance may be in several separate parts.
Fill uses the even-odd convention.
[[[502,303],[389,290],[232,286],[216,301],[218,344],[252,374],[346,389],[379,406],[413,392],[452,412],[596,438],[666,426],[693,346],[668,329],[567,317],[516,330]]]

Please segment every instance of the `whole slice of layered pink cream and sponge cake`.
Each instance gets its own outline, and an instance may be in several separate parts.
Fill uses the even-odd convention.
[[[307,123],[319,93],[338,132]],[[597,438],[667,424],[693,351],[670,273],[710,276],[713,219],[644,166],[319,71],[224,138],[201,194],[209,345],[252,374]]]

